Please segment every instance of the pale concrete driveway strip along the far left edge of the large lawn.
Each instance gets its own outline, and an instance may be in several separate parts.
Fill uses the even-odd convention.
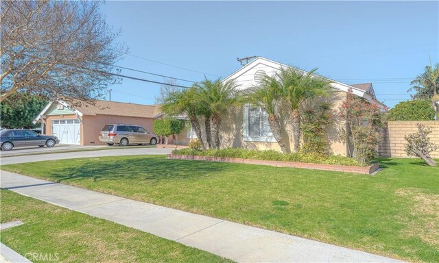
[[[104,146],[105,147],[105,146]],[[73,158],[93,158],[101,156],[121,155],[161,155],[171,153],[169,148],[130,148],[130,147],[108,147],[99,151],[77,151],[73,153],[47,153],[38,155],[21,155],[6,157],[1,155],[0,164],[21,164],[23,162],[39,162],[48,160],[62,160]]]

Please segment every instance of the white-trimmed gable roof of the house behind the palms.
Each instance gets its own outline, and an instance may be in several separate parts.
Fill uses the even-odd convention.
[[[241,87],[246,88],[246,86],[249,86],[249,85],[251,86],[252,84],[256,84],[256,83],[252,83],[252,82],[254,82],[253,75],[251,75],[251,81],[250,81],[250,79],[249,79],[250,75],[248,74],[248,72],[252,72],[256,68],[261,68],[261,67],[267,68],[269,71],[269,72],[267,72],[267,74],[269,75],[270,73],[274,73],[274,72],[280,70],[281,68],[287,68],[287,67],[291,68],[292,66],[288,66],[286,64],[275,62],[273,60],[269,60],[268,58],[257,57],[254,60],[252,60],[251,62],[249,62],[248,64],[246,64],[245,66],[242,66],[241,68],[239,68],[234,73],[228,75],[228,77],[223,79],[223,82],[234,80],[235,82],[237,82],[238,85],[243,83],[243,84],[241,84]],[[307,71],[302,71],[300,68],[296,68],[296,69],[302,73],[307,73]],[[320,77],[322,77],[322,76],[320,76]],[[245,79],[245,80],[239,81],[239,80],[237,80],[238,78]],[[342,82],[337,82],[337,81],[335,81],[333,79],[329,79],[327,77],[323,77],[323,78],[331,81],[331,86],[333,86],[337,90],[342,90],[344,92],[348,92],[348,90],[351,89],[355,95],[357,95],[359,97],[363,97],[364,99],[367,99],[368,101],[375,101],[375,92],[373,91],[373,88],[371,88],[372,84],[368,85],[368,88],[365,90],[366,85],[364,85],[364,84],[357,84],[359,86],[355,86],[355,85],[344,84]],[[385,107],[385,105],[383,103],[380,103],[379,101],[375,101],[375,102],[377,102],[379,105],[381,105],[382,106],[381,108]]]

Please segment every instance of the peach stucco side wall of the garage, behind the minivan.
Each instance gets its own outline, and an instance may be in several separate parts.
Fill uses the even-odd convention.
[[[148,132],[153,132],[154,118],[84,115],[81,125],[81,145],[105,145],[104,142],[99,142],[99,132],[105,125],[115,123],[139,125],[147,129]]]

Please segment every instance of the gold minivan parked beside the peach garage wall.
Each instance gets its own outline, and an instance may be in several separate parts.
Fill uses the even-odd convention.
[[[130,144],[143,145],[144,143],[156,145],[157,136],[138,125],[108,124],[99,132],[99,141],[105,142],[107,145],[126,146]]]

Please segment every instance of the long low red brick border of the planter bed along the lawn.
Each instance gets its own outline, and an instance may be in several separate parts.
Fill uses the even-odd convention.
[[[200,161],[210,161],[210,162],[233,162],[237,164],[262,164],[262,165],[277,166],[277,167],[295,167],[295,168],[337,171],[337,172],[347,172],[347,173],[362,173],[366,175],[370,175],[374,173],[379,168],[379,164],[377,163],[372,164],[370,166],[348,166],[348,165],[338,165],[338,164],[313,164],[310,162],[282,162],[282,161],[252,160],[252,159],[241,159],[241,158],[223,158],[223,157],[184,155],[184,154],[174,154],[174,153],[168,154],[167,158],[179,159],[179,160],[200,160]]]

